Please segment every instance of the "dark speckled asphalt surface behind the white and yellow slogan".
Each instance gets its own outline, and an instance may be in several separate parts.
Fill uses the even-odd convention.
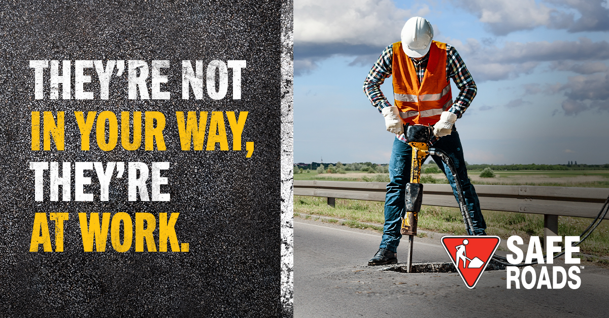
[[[281,86],[281,7],[282,2],[277,0],[202,4],[186,0],[0,2],[0,318],[284,314],[280,303],[279,92],[290,95],[291,86],[285,83]],[[292,24],[291,19],[287,22]],[[69,78],[70,89],[67,83],[59,85],[61,98],[51,99],[54,63],[49,62],[43,71],[44,99],[36,99],[35,71],[30,60],[60,61],[60,65],[61,61],[71,61],[71,72],[63,73],[63,67],[60,68],[62,76]],[[108,99],[101,97],[94,67],[83,71],[91,81],[82,86],[84,91],[93,93],[93,99],[76,99],[77,60],[100,60],[106,69],[108,61],[124,61],[125,70],[120,75],[116,68],[110,71],[113,75]],[[139,60],[147,64],[147,73],[143,66],[132,71],[140,77],[148,74],[146,88],[139,87],[149,89],[150,99],[140,99],[144,96],[141,93],[137,99],[129,99],[129,61]],[[152,95],[154,60],[169,61],[169,67],[160,71],[167,76],[160,91],[169,92],[170,99],[154,99]],[[204,89],[202,96],[195,97],[191,91],[189,99],[183,99],[182,61],[191,61],[197,74],[203,74],[213,60],[247,61],[241,71],[241,99],[234,99],[233,68],[228,69],[231,75],[224,98],[216,100],[208,94],[211,89],[206,90],[207,80],[216,77],[205,77],[205,83],[199,82]],[[196,61],[202,61],[202,66],[197,67]],[[214,82],[209,87],[222,86]],[[63,99],[64,89],[69,91],[70,99]],[[84,112],[87,121],[93,119],[88,117],[94,116],[90,112],[96,112],[96,125],[109,127],[110,119],[108,124],[103,118],[104,122],[100,121],[100,114],[107,111],[117,117],[117,129],[105,128],[107,135],[97,136],[94,128],[90,149],[81,150],[82,135],[75,112]],[[122,126],[122,120],[130,120],[121,117],[123,111],[131,112],[130,118],[135,118],[135,112],[142,112],[144,118],[150,111],[163,114],[162,140],[166,150],[160,147],[160,136],[156,137],[153,150],[146,150],[145,140],[152,140],[150,134],[145,136],[146,120],[142,120],[139,148],[126,150],[122,142],[133,139],[136,143],[135,137],[127,136],[139,128],[135,128],[135,119],[128,124],[133,128]],[[206,150],[207,147],[200,151],[181,150],[177,120],[181,115],[177,112],[186,115],[189,111],[198,111],[205,136],[213,136],[216,131],[222,135],[226,130],[230,148],[221,150],[214,143],[214,150]],[[242,111],[248,112],[241,150],[233,150],[236,147],[233,148],[226,113],[222,115],[226,122],[219,125],[221,128],[216,130],[211,125],[212,113],[219,111],[235,111],[239,116]],[[63,112],[63,149],[58,150],[61,148],[55,145],[58,140],[53,139],[51,150],[32,150],[32,112],[51,112],[55,118]],[[41,119],[43,116],[40,114]],[[205,120],[205,116],[209,119]],[[162,129],[161,121],[155,126]],[[115,140],[120,136],[121,141],[112,150],[102,150],[97,140],[105,143],[107,136],[112,146],[110,136],[114,133]],[[213,143],[213,139],[209,143],[209,137],[205,140],[206,145]],[[246,157],[246,142],[255,143],[250,158]],[[292,141],[284,143],[291,145]],[[62,196],[60,200],[67,201],[51,201],[50,171],[46,171],[44,200],[35,201],[30,162],[60,162],[59,167],[62,162],[72,162],[71,172],[62,175],[71,179],[70,198]],[[161,186],[160,192],[171,194],[171,201],[129,201],[127,168],[122,177],[110,172],[108,201],[100,200],[96,172],[85,170],[84,176],[91,178],[91,184],[84,186],[84,192],[93,193],[94,200],[75,201],[74,162],[102,162],[104,167],[108,162],[122,162],[125,167],[128,162],[144,162],[149,167],[152,162],[169,162],[169,170],[161,172],[167,184]],[[146,178],[152,179],[152,173]],[[147,187],[151,189],[150,181]],[[62,185],[62,192],[65,189]],[[38,227],[33,226],[35,213],[51,212],[69,215],[63,225],[63,252],[43,252],[42,247],[40,252],[30,252],[32,233],[38,234]],[[156,251],[160,251],[162,241],[160,225],[157,226],[161,224],[160,213],[180,213],[175,232],[179,243],[189,244],[188,252],[136,252],[133,232],[133,244],[127,252],[114,250],[111,235],[104,252],[85,252],[79,213],[88,213],[90,218],[98,216],[93,213],[111,213],[113,218],[118,212],[128,213],[134,227],[136,213],[150,213],[156,218],[154,223],[147,223],[154,232],[153,242],[146,243],[150,244],[147,247],[154,245]],[[50,219],[48,226],[55,248],[54,222]],[[284,269],[290,270],[287,264]]]

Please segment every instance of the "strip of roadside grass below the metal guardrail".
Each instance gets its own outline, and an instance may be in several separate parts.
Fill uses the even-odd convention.
[[[303,213],[345,219],[347,222],[343,222],[343,225],[372,228],[379,232],[382,232],[382,224],[384,223],[383,209],[383,202],[336,199],[336,207],[331,207],[326,203],[326,198],[294,196],[295,215]],[[519,235],[524,240],[527,240],[530,236],[543,237],[543,215],[486,210],[482,213],[487,223],[487,233],[489,235],[497,235],[503,240],[511,235]],[[563,236],[580,235],[592,220],[559,216],[558,234]],[[334,223],[338,222],[336,219],[333,221]],[[376,223],[379,225],[378,227],[371,227],[362,223]],[[466,234],[459,209],[451,207],[421,207],[418,228],[454,235]],[[609,255],[609,220],[602,221],[592,235],[580,244],[580,252],[598,256]]]

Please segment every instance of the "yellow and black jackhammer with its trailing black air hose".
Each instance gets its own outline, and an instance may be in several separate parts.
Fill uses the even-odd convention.
[[[418,212],[421,210],[421,204],[423,203],[423,184],[420,183],[421,178],[421,163],[427,156],[438,156],[442,159],[442,162],[448,166],[452,178],[454,178],[456,183],[457,196],[459,198],[459,210],[461,211],[461,216],[463,217],[463,224],[465,224],[465,229],[470,235],[473,235],[474,226],[471,222],[470,213],[468,212],[465,204],[465,197],[463,196],[463,190],[461,188],[461,183],[459,182],[459,177],[457,176],[457,170],[452,164],[452,160],[448,155],[437,148],[431,147],[431,138],[434,136],[432,134],[433,128],[431,126],[425,125],[409,125],[406,127],[405,137],[408,141],[410,147],[412,147],[412,165],[410,168],[410,183],[406,184],[406,215],[402,218],[402,226],[400,232],[402,235],[408,235],[408,258],[406,261],[408,272],[412,272],[412,247],[414,243],[414,237],[417,235],[417,222],[418,222]],[[607,216],[609,212],[609,196],[605,200],[605,203],[600,208],[599,214],[594,218],[590,226],[588,226],[585,230],[583,230],[580,237],[583,237],[579,242],[573,243],[572,246],[577,246],[582,243],[586,238],[590,236],[590,234],[599,226],[600,222]],[[563,251],[560,254],[554,255],[553,258],[558,258],[565,254],[564,247]],[[544,259],[547,258],[547,255],[544,255]],[[530,266],[533,264],[537,264],[537,261],[532,263],[521,263],[521,264],[512,264],[507,262],[507,258],[493,255],[493,261],[496,261],[499,264],[503,264],[505,266]]]

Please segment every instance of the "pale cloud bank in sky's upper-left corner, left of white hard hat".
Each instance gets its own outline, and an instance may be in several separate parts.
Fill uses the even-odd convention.
[[[407,19],[426,16],[428,5],[409,10],[392,0],[301,0],[294,3],[294,74],[317,67],[332,55],[361,57],[353,64],[371,64],[382,49],[400,41]]]

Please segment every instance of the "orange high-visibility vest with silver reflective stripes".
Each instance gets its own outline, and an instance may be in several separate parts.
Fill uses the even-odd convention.
[[[402,43],[393,43],[393,105],[398,106],[405,124],[434,125],[452,105],[451,85],[446,81],[446,43],[432,41],[430,45],[427,69],[419,84]]]

